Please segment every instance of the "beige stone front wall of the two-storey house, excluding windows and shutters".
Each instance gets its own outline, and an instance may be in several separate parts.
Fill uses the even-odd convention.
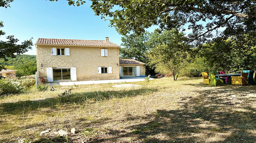
[[[52,55],[52,47],[69,48],[70,55]],[[108,56],[102,57],[100,49],[108,49]],[[76,67],[77,81],[119,79],[117,64],[119,47],[37,45],[39,77],[47,76],[47,67]],[[112,74],[98,74],[98,67],[109,66],[112,66]]]

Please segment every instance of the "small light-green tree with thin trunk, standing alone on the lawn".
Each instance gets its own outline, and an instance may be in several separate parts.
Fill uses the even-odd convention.
[[[187,44],[187,37],[178,30],[165,30],[161,34],[152,33],[150,41],[152,49],[148,52],[149,64],[156,68],[156,72],[173,75],[177,80],[183,68],[191,46]],[[176,76],[176,78],[175,78]]]

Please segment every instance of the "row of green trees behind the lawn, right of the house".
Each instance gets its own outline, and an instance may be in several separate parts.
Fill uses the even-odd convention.
[[[121,58],[147,63],[146,74],[172,74],[199,77],[202,72],[241,73],[256,70],[255,32],[230,37],[216,37],[202,45],[178,30],[143,35],[125,35],[119,50]]]

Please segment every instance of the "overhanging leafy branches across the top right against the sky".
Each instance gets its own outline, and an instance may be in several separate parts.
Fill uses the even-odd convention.
[[[58,1],[58,0],[50,0]],[[67,0],[70,5],[85,1]],[[191,29],[192,41],[204,42],[213,36],[238,35],[237,29],[255,31],[255,0],[91,0],[96,15],[109,18],[110,26],[122,34],[145,32],[157,25],[160,30]],[[205,24],[204,24],[205,23]],[[224,28],[219,31],[218,28]],[[235,31],[233,31],[235,30]],[[223,36],[223,35],[222,35]]]

